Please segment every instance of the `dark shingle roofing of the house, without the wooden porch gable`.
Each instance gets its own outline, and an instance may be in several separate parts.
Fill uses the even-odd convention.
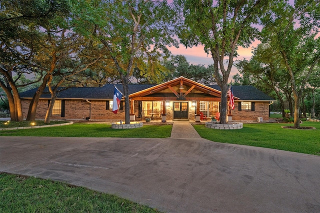
[[[115,86],[123,93],[122,84],[115,84]],[[155,86],[155,84],[128,84],[129,94],[137,91]],[[211,88],[220,90],[218,85],[208,85]],[[30,89],[20,93],[21,98],[33,97],[37,88]],[[112,99],[114,92],[114,84],[106,84],[102,87],[70,87],[63,90],[61,87],[57,92],[58,98],[81,98],[81,99]],[[240,100],[274,100],[272,97],[266,95],[261,90],[253,86],[233,86],[233,95],[240,98]],[[48,88],[44,89],[41,98],[50,98]]]

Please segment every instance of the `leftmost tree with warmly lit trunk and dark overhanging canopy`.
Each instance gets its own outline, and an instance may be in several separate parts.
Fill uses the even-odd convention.
[[[68,0],[11,0],[0,3],[0,86],[5,91],[11,120],[22,120],[21,100],[18,87],[26,84],[19,79],[25,73],[34,73],[34,55],[41,41],[38,29],[54,16],[64,13],[68,9]],[[34,73],[34,76],[36,74]],[[17,77],[15,77],[17,76]]]

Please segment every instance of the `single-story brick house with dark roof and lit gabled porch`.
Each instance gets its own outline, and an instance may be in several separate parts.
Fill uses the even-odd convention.
[[[121,84],[116,84],[123,91]],[[154,84],[129,84],[130,119],[196,120],[199,112],[210,117],[219,111],[221,92],[218,85],[203,85],[185,77]],[[36,88],[21,92],[22,111],[27,113]],[[117,114],[112,112],[114,85],[72,87],[57,93],[52,119],[124,120],[124,99]],[[249,85],[234,85],[234,109],[228,119],[269,119],[269,105],[275,101]],[[43,92],[37,105],[36,118],[44,118],[50,94]]]

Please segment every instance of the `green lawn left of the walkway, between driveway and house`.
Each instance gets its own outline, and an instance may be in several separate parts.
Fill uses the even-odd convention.
[[[172,125],[143,125],[141,128],[112,129],[111,124],[73,123],[46,128],[1,130],[2,136],[51,137],[170,137]]]

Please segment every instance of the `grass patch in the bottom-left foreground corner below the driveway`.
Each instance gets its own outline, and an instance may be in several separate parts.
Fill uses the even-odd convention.
[[[0,212],[159,212],[115,195],[35,177],[0,173]]]

